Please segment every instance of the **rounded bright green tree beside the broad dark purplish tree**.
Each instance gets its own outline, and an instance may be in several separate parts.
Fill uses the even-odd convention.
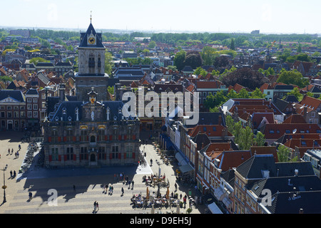
[[[277,78],[277,83],[285,83],[287,85],[293,84],[300,88],[304,88],[309,85],[309,80],[307,78],[303,78],[302,73],[297,70],[286,71],[282,68],[280,76]]]

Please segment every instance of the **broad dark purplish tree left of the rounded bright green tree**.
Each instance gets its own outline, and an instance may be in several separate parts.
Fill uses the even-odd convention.
[[[262,73],[245,67],[228,73],[222,78],[222,82],[225,86],[234,86],[238,83],[251,90],[255,90],[255,88],[260,88],[263,83],[268,83],[269,80]]]

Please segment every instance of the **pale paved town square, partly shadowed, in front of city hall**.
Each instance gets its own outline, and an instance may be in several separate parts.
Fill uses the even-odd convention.
[[[98,214],[151,214],[151,208],[141,209],[134,208],[131,204],[133,195],[146,195],[146,185],[142,182],[143,175],[151,175],[158,173],[158,165],[156,160],[160,160],[160,156],[154,150],[151,142],[141,145],[141,150],[145,146],[146,167],[133,165],[128,167],[101,167],[101,168],[71,168],[46,170],[43,168],[34,169],[23,178],[17,176],[10,177],[10,170],[16,170],[18,173],[21,164],[24,161],[24,155],[28,147],[28,143],[20,142],[21,136],[19,133],[7,132],[0,133],[0,169],[1,174],[4,173],[5,178],[0,175],[1,186],[3,181],[6,188],[6,202],[0,205],[0,213],[2,214],[83,214],[93,213],[93,202],[99,204]],[[18,150],[21,145],[19,158],[13,155],[6,155],[8,148]],[[153,159],[153,165],[149,165],[149,160]],[[8,165],[4,172],[3,167]],[[175,175],[172,165],[165,165],[161,162],[161,173],[164,174],[170,182],[170,192],[174,192]],[[133,189],[128,189],[128,185],[123,182],[118,182],[114,178],[114,174],[124,172],[128,175],[129,180],[134,180]],[[103,192],[104,185],[113,185],[113,195],[108,195]],[[73,190],[73,185],[76,190]],[[121,187],[124,189],[124,195],[121,195]],[[178,183],[178,195],[188,194],[190,187],[180,185]],[[1,189],[2,190],[2,189]],[[53,193],[50,190],[57,192],[57,204],[50,205]],[[157,192],[157,187],[149,187],[150,192]],[[161,188],[161,194],[165,195],[166,188]],[[3,190],[2,190],[3,191]],[[33,198],[29,200],[29,192],[32,192]],[[0,193],[0,195],[3,192]],[[0,198],[0,202],[2,202]],[[188,207],[188,204],[186,205]],[[203,213],[202,205],[197,208],[192,207],[192,214]],[[180,212],[186,213],[187,208],[180,209]],[[176,212],[176,208],[156,209],[156,213]]]

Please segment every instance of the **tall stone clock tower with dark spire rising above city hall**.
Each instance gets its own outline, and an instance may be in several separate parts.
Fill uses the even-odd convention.
[[[81,33],[78,47],[78,73],[76,73],[77,100],[88,100],[88,93],[95,88],[98,100],[108,100],[108,74],[105,73],[105,53],[102,34],[96,33],[93,24]]]

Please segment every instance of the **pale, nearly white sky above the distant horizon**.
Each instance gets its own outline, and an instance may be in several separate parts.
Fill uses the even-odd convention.
[[[320,0],[11,0],[0,27],[321,33]],[[91,13],[92,11],[92,13]]]

